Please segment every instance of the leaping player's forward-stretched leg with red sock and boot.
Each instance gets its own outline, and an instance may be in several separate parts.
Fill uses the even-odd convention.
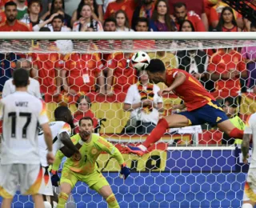
[[[155,126],[154,130],[150,133],[142,145],[138,147],[126,146],[126,150],[132,154],[143,155],[150,146],[154,145],[155,142],[158,142],[158,140],[162,138],[162,135],[166,133],[168,128],[178,128],[190,125],[190,119],[186,118],[186,116],[182,114],[168,115],[158,121],[158,125]]]

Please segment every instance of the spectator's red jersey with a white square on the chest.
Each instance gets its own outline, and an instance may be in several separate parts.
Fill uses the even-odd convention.
[[[95,90],[96,77],[101,72],[102,62],[98,54],[69,54],[64,58],[67,82],[76,92]]]

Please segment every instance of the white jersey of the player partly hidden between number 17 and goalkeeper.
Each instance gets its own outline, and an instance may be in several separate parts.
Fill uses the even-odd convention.
[[[51,134],[53,135],[53,153],[54,155],[56,152],[64,146],[59,138],[59,134],[62,132],[66,132],[67,134],[71,134],[71,127],[66,122],[50,122],[50,130]],[[40,131],[38,133],[38,143],[39,143],[39,150],[40,150],[40,158],[41,158],[41,165],[46,167],[48,166],[46,160],[46,154],[48,152],[46,142],[44,139],[43,132]]]

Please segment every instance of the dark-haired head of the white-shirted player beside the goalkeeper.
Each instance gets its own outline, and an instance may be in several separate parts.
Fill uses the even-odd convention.
[[[55,121],[67,122],[74,129],[74,122],[70,110],[66,106],[58,106],[54,110]]]

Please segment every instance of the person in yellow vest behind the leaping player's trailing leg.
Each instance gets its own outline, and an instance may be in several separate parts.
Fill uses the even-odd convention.
[[[230,122],[238,128],[238,130],[245,130],[245,123],[242,122],[242,119],[238,116],[238,103],[236,98],[228,97],[224,100],[224,105],[222,109],[226,113],[227,117],[229,118]],[[222,144],[240,144],[242,143],[242,139],[239,138],[230,138],[227,134],[223,134]]]

